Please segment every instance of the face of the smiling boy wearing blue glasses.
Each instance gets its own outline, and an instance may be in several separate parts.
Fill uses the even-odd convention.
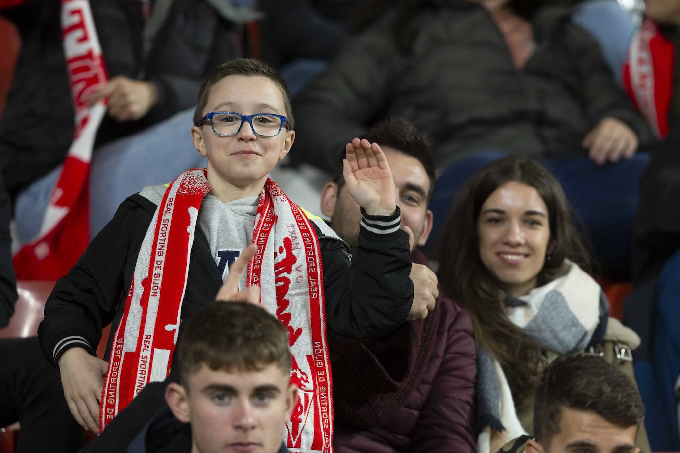
[[[203,115],[213,111],[286,115],[281,90],[273,81],[245,75],[228,75],[211,88]],[[192,126],[191,138],[201,156],[208,158],[211,185],[245,189],[264,183],[290,150],[295,132],[283,127],[276,137],[258,137],[244,122],[238,134],[220,136],[206,121],[202,126]]]

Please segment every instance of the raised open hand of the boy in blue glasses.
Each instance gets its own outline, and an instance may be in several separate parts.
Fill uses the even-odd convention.
[[[343,176],[352,198],[369,215],[391,215],[396,209],[396,187],[387,158],[377,143],[354,139],[345,147]]]

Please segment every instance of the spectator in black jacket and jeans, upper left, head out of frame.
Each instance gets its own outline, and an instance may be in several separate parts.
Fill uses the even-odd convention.
[[[25,189],[15,206],[20,242],[39,232],[73,139],[60,5],[26,0],[2,10],[22,36],[0,124],[0,165],[10,194]],[[109,75],[107,86],[91,98],[109,98],[90,168],[90,219],[97,223],[90,231],[96,234],[115,212],[112,200],[205,164],[188,151],[188,126],[178,126],[173,115],[193,109],[207,71],[252,53],[245,24],[259,15],[231,1],[103,0],[92,3],[92,16]],[[186,139],[175,140],[171,132],[178,127]]]

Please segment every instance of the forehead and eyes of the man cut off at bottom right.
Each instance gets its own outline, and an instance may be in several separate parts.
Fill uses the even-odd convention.
[[[530,440],[526,453],[638,453],[636,435],[636,426],[622,428],[594,412],[564,407],[560,432],[554,435],[550,447]]]

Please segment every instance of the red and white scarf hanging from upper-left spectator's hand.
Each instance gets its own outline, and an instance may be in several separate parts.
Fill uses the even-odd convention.
[[[86,101],[106,83],[108,76],[88,1],[63,0],[61,23],[75,134],[39,234],[14,255],[19,280],[60,278],[75,264],[90,240],[90,158],[106,106],[100,101],[90,108]]]

